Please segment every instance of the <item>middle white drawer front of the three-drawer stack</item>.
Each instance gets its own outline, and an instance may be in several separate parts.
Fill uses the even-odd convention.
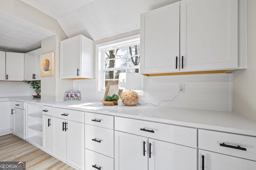
[[[114,130],[85,124],[85,148],[114,158]]]

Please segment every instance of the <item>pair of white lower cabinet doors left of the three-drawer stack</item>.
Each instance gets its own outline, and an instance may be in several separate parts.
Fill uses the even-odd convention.
[[[84,123],[52,117],[52,154],[84,169]]]

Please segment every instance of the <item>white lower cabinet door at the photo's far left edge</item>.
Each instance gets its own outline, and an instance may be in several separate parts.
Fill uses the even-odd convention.
[[[10,102],[0,102],[0,131],[10,129]]]

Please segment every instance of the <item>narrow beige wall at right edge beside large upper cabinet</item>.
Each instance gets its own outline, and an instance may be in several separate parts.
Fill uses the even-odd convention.
[[[234,71],[233,111],[256,122],[256,1],[247,0],[247,68]]]

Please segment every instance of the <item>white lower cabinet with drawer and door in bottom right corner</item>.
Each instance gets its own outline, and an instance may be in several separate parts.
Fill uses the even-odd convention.
[[[256,137],[198,129],[198,170],[255,170]]]

